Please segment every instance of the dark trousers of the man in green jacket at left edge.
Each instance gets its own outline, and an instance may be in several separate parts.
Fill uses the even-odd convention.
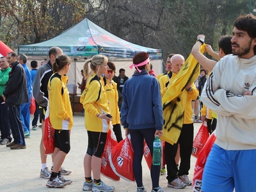
[[[11,127],[8,116],[8,106],[6,104],[0,104],[0,131],[1,131],[1,139],[8,139],[10,142],[11,138]]]

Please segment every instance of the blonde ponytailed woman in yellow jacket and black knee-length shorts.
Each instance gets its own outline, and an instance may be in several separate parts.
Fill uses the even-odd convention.
[[[109,121],[108,97],[104,84],[100,82],[102,74],[108,68],[108,58],[95,55],[84,63],[84,78],[88,78],[80,102],[84,108],[84,124],[88,133],[88,148],[84,156],[84,191],[114,191],[115,187],[107,186],[100,180],[101,156],[104,152]],[[92,76],[89,76],[89,65]],[[93,173],[93,180],[92,180]]]

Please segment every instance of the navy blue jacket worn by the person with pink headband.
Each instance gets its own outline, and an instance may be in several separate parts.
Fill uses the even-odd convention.
[[[160,86],[147,70],[136,71],[122,92],[121,122],[129,129],[163,129],[163,108]]]

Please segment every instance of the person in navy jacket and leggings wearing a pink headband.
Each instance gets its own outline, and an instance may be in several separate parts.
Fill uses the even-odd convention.
[[[157,78],[149,76],[150,60],[147,52],[140,52],[132,58],[130,68],[136,71],[128,79],[123,88],[123,102],[121,108],[121,122],[125,134],[131,134],[134,151],[133,172],[137,184],[137,192],[146,192],[142,180],[141,160],[143,157],[144,140],[151,155],[156,136],[163,135],[163,108],[160,86]],[[152,180],[151,192],[164,192],[159,186],[160,165],[151,164]]]

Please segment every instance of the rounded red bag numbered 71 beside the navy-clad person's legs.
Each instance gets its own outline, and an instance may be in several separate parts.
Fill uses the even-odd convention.
[[[135,181],[132,169],[133,156],[130,134],[113,147],[109,155],[109,162],[113,172],[127,181]]]

